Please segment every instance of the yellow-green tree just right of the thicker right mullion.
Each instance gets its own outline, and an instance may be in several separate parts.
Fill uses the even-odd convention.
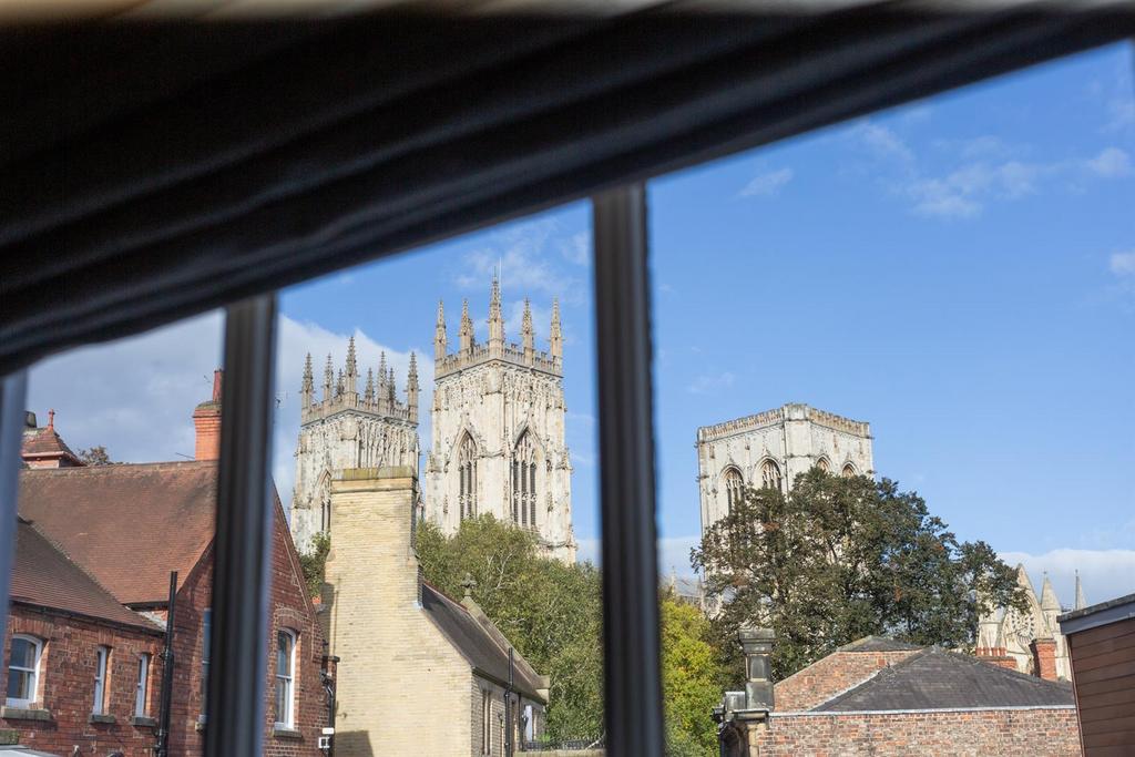
[[[670,592],[663,595],[659,612],[666,755],[713,757],[717,727],[709,713],[721,701],[729,675],[711,644],[709,621]]]

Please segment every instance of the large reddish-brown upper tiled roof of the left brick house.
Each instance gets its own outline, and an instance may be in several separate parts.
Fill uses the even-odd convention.
[[[19,513],[124,605],[165,604],[212,541],[217,462],[28,469]]]

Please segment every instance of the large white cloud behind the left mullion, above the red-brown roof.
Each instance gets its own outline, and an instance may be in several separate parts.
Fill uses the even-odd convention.
[[[31,371],[28,409],[40,424],[54,409],[56,428],[76,452],[103,445],[111,459],[155,462],[192,459],[193,409],[209,398],[212,371],[221,362],[222,319],[219,312],[194,318],[141,336],[82,347],[51,358]],[[304,355],[312,353],[316,392],[322,386],[327,354],[336,372],[346,359],[348,334],[310,322],[280,318],[277,343],[277,414],[272,444],[272,474],[285,505],[295,478],[295,443],[300,430],[300,384]],[[360,372],[377,368],[385,351],[404,397],[410,351],[396,351],[355,330]],[[434,361],[418,350],[421,386],[419,407],[428,409],[434,387]],[[362,386],[360,386],[362,390]],[[429,439],[429,413],[420,413],[419,432]]]

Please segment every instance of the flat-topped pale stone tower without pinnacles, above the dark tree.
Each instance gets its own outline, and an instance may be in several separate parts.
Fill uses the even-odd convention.
[[[875,470],[869,423],[796,403],[704,426],[697,451],[703,533],[747,486],[788,494],[813,465],[844,476]]]

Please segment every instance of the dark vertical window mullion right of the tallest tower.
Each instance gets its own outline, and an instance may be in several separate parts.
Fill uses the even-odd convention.
[[[663,754],[646,187],[591,200],[607,754]]]

